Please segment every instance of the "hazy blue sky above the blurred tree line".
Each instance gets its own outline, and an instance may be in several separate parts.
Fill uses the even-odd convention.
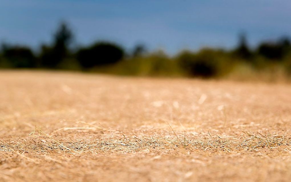
[[[76,45],[111,40],[168,53],[203,46],[230,48],[291,36],[290,0],[0,0],[0,41],[37,47],[65,20]]]

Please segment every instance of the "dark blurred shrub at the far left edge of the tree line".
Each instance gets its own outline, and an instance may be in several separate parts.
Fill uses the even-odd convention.
[[[26,46],[5,46],[2,50],[3,60],[14,68],[34,68],[37,66],[33,52]]]

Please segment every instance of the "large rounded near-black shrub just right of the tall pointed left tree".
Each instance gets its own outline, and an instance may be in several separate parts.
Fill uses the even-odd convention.
[[[117,63],[123,59],[124,50],[113,43],[99,42],[77,52],[77,60],[84,68]]]

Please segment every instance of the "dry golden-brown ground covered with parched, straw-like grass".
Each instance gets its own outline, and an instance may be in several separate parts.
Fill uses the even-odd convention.
[[[0,72],[0,181],[290,181],[291,85]]]

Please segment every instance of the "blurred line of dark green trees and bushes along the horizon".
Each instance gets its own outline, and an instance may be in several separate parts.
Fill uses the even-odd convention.
[[[261,42],[250,48],[245,34],[239,36],[232,50],[203,48],[184,50],[175,56],[163,51],[149,53],[139,44],[131,52],[111,42],[72,48],[74,36],[65,23],[54,33],[50,45],[41,45],[38,53],[30,47],[3,43],[0,50],[2,68],[49,68],[99,71],[123,75],[223,77],[239,73],[281,70],[291,75],[291,43],[288,37]],[[283,70],[283,71],[282,71]],[[274,76],[274,75],[273,75]]]

